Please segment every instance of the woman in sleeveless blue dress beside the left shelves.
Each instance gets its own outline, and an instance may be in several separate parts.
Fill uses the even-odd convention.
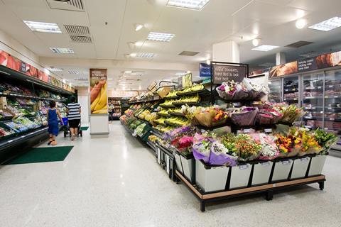
[[[50,109],[48,109],[48,134],[50,134],[50,140],[48,145],[57,145],[55,137],[59,133],[58,117],[60,124],[63,126],[63,119],[58,109],[55,108],[55,101],[50,101]]]

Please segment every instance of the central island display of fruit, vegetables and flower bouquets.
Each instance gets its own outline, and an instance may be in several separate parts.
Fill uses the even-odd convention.
[[[323,189],[321,172],[337,136],[301,127],[303,109],[261,101],[266,94],[247,78],[224,82],[212,94],[195,84],[135,100],[120,120],[193,192],[202,211],[207,201],[228,196],[262,192],[272,199],[275,189],[314,182]],[[201,102],[211,95],[224,104]]]

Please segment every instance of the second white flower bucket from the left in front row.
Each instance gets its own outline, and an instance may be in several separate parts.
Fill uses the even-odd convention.
[[[243,164],[231,167],[231,179],[229,189],[247,187],[251,173],[251,165]]]

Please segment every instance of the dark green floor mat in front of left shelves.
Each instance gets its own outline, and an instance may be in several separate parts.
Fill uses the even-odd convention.
[[[58,162],[65,160],[73,146],[31,148],[28,152],[6,162],[4,165],[26,164],[36,162]]]

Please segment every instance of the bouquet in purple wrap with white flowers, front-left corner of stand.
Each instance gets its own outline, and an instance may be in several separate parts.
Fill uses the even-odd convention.
[[[215,141],[211,147],[210,165],[237,165],[238,156],[235,153],[229,153],[229,150],[219,141]]]

